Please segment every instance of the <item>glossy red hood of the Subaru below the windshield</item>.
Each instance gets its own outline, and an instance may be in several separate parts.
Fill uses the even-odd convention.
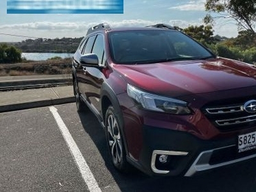
[[[171,97],[256,85],[256,68],[224,58],[114,65],[127,83]]]

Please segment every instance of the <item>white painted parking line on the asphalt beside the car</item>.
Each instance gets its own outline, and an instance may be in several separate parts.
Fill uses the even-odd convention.
[[[54,108],[53,106],[49,107],[49,109],[52,115],[54,116],[58,124],[58,127],[60,128],[63,138],[65,138],[65,141],[67,142],[68,148],[71,154],[73,155],[74,160],[77,163],[79,171],[81,172],[82,177],[86,182],[86,185],[88,186],[89,191],[91,192],[101,191],[88,164],[84,160],[83,155],[81,154],[79,148],[77,147],[76,142],[74,141],[70,132],[68,131],[67,126],[64,124],[63,120],[61,119],[61,116],[58,113],[58,109]]]

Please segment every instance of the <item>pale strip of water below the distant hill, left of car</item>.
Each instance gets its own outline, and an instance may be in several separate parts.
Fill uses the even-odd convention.
[[[54,52],[22,52],[21,57],[26,60],[42,61],[54,57],[71,58],[73,53],[54,53]]]

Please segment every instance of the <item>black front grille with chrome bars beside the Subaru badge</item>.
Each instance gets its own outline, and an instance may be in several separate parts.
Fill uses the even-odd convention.
[[[207,104],[202,111],[220,131],[246,129],[256,126],[256,113],[244,110],[244,104],[255,98],[252,96],[251,98],[220,100]]]

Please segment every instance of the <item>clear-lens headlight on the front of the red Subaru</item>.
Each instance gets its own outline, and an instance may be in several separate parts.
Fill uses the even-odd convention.
[[[187,102],[143,92],[131,84],[127,84],[127,94],[136,105],[144,109],[179,115],[191,113]]]

